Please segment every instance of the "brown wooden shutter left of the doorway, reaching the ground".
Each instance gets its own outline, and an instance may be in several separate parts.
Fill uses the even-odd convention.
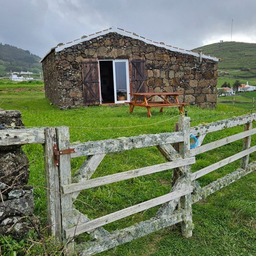
[[[98,59],[82,62],[84,105],[100,104],[100,81]]]

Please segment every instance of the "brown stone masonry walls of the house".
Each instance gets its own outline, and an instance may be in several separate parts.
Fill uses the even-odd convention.
[[[47,56],[43,61],[46,96],[62,108],[83,105],[82,60],[131,57],[145,57],[148,92],[183,92],[184,95],[179,96],[180,102],[216,107],[216,61],[203,58],[199,62],[193,55],[146,44],[115,32]],[[56,80],[58,92],[55,85],[49,90]]]

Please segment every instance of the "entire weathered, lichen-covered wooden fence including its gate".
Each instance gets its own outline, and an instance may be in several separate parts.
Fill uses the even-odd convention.
[[[250,147],[251,136],[256,133],[256,128],[252,129],[254,120],[256,120],[256,114],[190,127],[190,118],[180,117],[179,122],[175,124],[175,132],[89,141],[73,146],[70,145],[67,127],[2,130],[0,131],[0,146],[43,144],[47,213],[51,233],[59,241],[67,243],[66,255],[74,251],[79,252],[80,255],[93,255],[179,222],[182,235],[187,238],[191,237],[191,205],[256,169],[256,163],[249,163],[249,154],[256,151],[256,146]],[[245,125],[243,132],[201,145],[207,133],[239,125]],[[190,135],[198,138],[199,145],[194,149],[190,149]],[[239,139],[243,139],[241,152],[191,173],[190,166],[195,163],[196,155]],[[106,154],[152,146],[156,146],[168,162],[90,179]],[[87,160],[79,169],[78,182],[72,183],[70,159],[80,156],[87,156]],[[199,177],[240,158],[241,169],[205,187],[200,187],[196,181]],[[166,195],[93,220],[73,207],[73,201],[84,189],[169,169],[173,169],[173,185],[170,193]],[[102,227],[107,223],[157,205],[161,206],[156,216],[147,221],[112,233]],[[90,234],[93,240],[74,245],[73,238],[84,232]]]

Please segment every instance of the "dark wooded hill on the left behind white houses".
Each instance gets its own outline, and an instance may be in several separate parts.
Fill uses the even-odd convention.
[[[0,43],[0,77],[5,76],[10,70],[21,72],[30,71],[39,74],[42,65],[40,57],[15,46]]]

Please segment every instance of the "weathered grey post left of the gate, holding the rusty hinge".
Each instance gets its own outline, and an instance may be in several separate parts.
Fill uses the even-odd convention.
[[[60,188],[58,167],[54,166],[53,142],[56,141],[55,128],[45,128],[44,166],[46,178],[47,220],[50,235],[61,242]]]

